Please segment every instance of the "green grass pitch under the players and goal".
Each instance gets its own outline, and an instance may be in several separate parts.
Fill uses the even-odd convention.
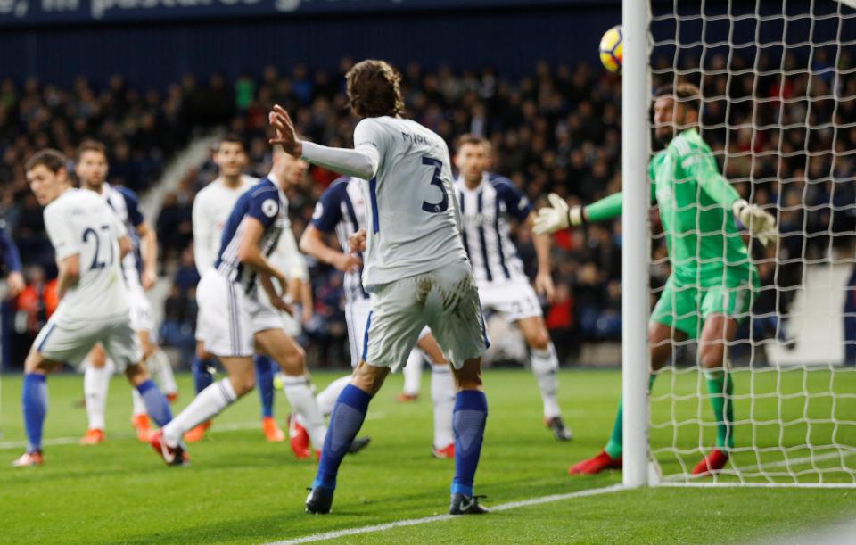
[[[856,418],[856,407],[846,397],[846,393],[856,392],[852,375],[839,374],[830,380],[829,376],[806,378],[794,372],[770,374],[765,382],[768,378],[758,374],[761,378],[756,377],[753,385],[756,392],[777,392],[778,388],[787,400],[770,397],[769,402],[754,403],[745,396],[750,383],[747,375],[736,381],[738,446],[754,442],[761,448],[775,447],[790,441],[789,434],[798,442],[805,442],[806,437],[812,442],[826,437],[830,442],[835,437],[837,444],[856,446],[852,426],[822,422],[824,414],[827,418],[832,414],[824,404],[832,407],[833,400],[812,393],[812,384],[818,384],[817,392],[822,384],[827,391],[832,384],[833,390],[845,394],[835,399],[837,419]],[[323,386],[337,376],[317,373],[315,380]],[[620,380],[617,371],[562,372],[564,417],[575,439],[558,443],[541,424],[539,394],[531,374],[488,370],[485,384],[490,417],[476,475],[477,493],[489,496],[485,503],[498,505],[619,483],[618,472],[571,478],[565,471],[572,462],[603,446],[612,428]],[[700,419],[697,405],[680,397],[694,392],[696,381],[695,373],[679,373],[661,377],[654,388],[654,424],[671,422],[672,415],[678,424],[654,428],[652,446],[671,445],[677,429],[676,444],[682,452],[687,450],[671,455],[675,459],[658,455],[666,474],[679,473],[682,465],[695,461],[697,453],[692,450],[700,436],[703,441],[708,435],[712,438],[707,401]],[[427,374],[423,398],[416,403],[402,405],[393,400],[400,376],[392,376],[373,401],[362,432],[371,435],[373,442],[365,451],[346,458],[329,516],[302,513],[305,487],[312,481],[316,464],[294,459],[287,443],[265,442],[254,392],[226,410],[205,441],[191,445],[191,467],[177,468],[165,467],[148,445],[136,442],[129,426],[129,387],[123,379],[112,381],[107,442],[95,447],[74,444],[86,427],[86,411],[78,407],[82,378],[52,376],[48,384],[51,405],[45,425],[45,466],[15,469],[9,462],[21,454],[24,440],[21,377],[2,379],[2,542],[258,543],[439,515],[448,508],[454,463],[430,455],[432,407]],[[182,407],[193,392],[190,377],[179,376],[179,385],[182,397],[178,406]],[[660,399],[672,387],[679,397]],[[787,397],[788,388],[812,395],[800,405],[797,398]],[[284,395],[278,393],[276,416],[282,420],[287,410]],[[790,422],[792,413],[794,423],[778,427],[741,421],[751,414],[759,422],[780,415]],[[56,444],[63,442],[71,444]],[[759,460],[761,465],[776,467],[777,463],[748,451],[735,458],[737,467],[759,465]],[[815,466],[842,467],[847,461],[844,457]],[[852,471],[856,460],[849,461]],[[794,467],[794,472],[800,470]],[[781,472],[781,467],[776,471]],[[773,470],[762,469],[764,472]],[[802,478],[817,478],[812,475]],[[852,479],[846,471],[824,473],[824,478]],[[854,513],[856,490],[653,488],[350,535],[336,542],[745,541],[804,532]]]

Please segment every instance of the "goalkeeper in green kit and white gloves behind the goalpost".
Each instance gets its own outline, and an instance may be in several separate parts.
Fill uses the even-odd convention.
[[[698,339],[698,359],[716,419],[716,445],[695,466],[693,475],[707,475],[725,467],[734,447],[728,343],[734,339],[737,320],[748,314],[758,285],[737,220],[763,244],[775,239],[777,228],[768,212],[741,199],[720,175],[711,148],[695,128],[699,108],[699,90],[693,85],[663,87],[655,95],[655,136],[665,149],[649,164],[651,198],[660,210],[671,277],[654,307],[648,343],[651,366],[657,371],[671,356],[673,342]],[[621,194],[585,207],[569,208],[556,194],[549,195],[549,201],[552,206],[541,209],[535,221],[539,234],[621,214]],[[619,404],[605,449],[571,467],[569,473],[591,475],[620,469],[621,424]]]

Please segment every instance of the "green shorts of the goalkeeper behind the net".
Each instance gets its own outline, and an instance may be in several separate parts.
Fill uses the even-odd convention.
[[[673,326],[695,339],[702,332],[704,320],[712,314],[724,314],[737,321],[749,316],[753,294],[749,278],[742,284],[700,286],[685,284],[672,275],[666,280],[651,321]]]

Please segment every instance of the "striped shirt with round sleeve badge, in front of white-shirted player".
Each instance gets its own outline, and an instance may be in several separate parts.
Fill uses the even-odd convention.
[[[269,256],[274,252],[283,230],[290,228],[288,200],[279,185],[271,181],[270,176],[252,186],[235,202],[235,208],[226,220],[226,227],[223,227],[220,251],[214,263],[220,274],[232,282],[240,283],[244,293],[254,293],[258,284],[256,271],[245,267],[238,260],[238,246],[241,244],[246,218],[258,219],[264,227],[259,249],[265,256]]]

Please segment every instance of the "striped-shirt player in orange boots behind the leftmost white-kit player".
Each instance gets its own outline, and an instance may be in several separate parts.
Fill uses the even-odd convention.
[[[122,258],[121,268],[131,308],[131,327],[140,340],[146,367],[152,372],[156,382],[161,384],[167,399],[172,401],[178,395],[176,379],[169,358],[152,342],[152,307],[145,296],[145,291],[157,282],[158,238],[152,225],[140,212],[136,194],[125,187],[107,184],[107,171],[107,150],[104,145],[95,140],[83,141],[78,146],[75,173],[78,175],[81,189],[100,194],[128,230],[132,248],[131,252]],[[107,359],[102,346],[96,344],[86,357],[84,367],[83,390],[86,394],[86,416],[89,425],[80,443],[91,445],[104,440],[104,409],[115,365]],[[136,427],[137,438],[148,442],[151,434],[149,416],[139,393],[132,389],[131,394],[131,422]]]

